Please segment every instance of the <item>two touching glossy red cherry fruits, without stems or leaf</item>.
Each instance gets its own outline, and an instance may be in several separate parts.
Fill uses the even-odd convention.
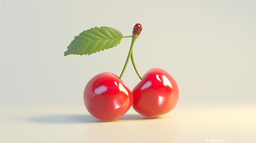
[[[85,107],[101,121],[115,121],[132,106],[147,118],[173,110],[179,98],[176,81],[160,68],[149,70],[132,92],[113,73],[100,73],[85,86]]]

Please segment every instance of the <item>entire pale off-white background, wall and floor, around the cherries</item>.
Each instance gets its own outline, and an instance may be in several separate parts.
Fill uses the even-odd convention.
[[[1,0],[0,141],[253,141],[255,7],[254,0]],[[170,73],[180,88],[178,105],[159,119],[131,109],[123,120],[97,123],[83,105],[83,89],[98,73],[121,73],[131,39],[90,56],[64,52],[86,29],[110,26],[126,36],[136,23],[143,26],[134,46],[139,72]],[[131,63],[122,80],[130,90],[139,82]]]

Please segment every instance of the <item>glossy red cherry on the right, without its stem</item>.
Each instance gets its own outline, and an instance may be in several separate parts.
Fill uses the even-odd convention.
[[[179,99],[176,81],[160,68],[149,70],[132,90],[132,107],[139,114],[155,118],[173,110]]]

